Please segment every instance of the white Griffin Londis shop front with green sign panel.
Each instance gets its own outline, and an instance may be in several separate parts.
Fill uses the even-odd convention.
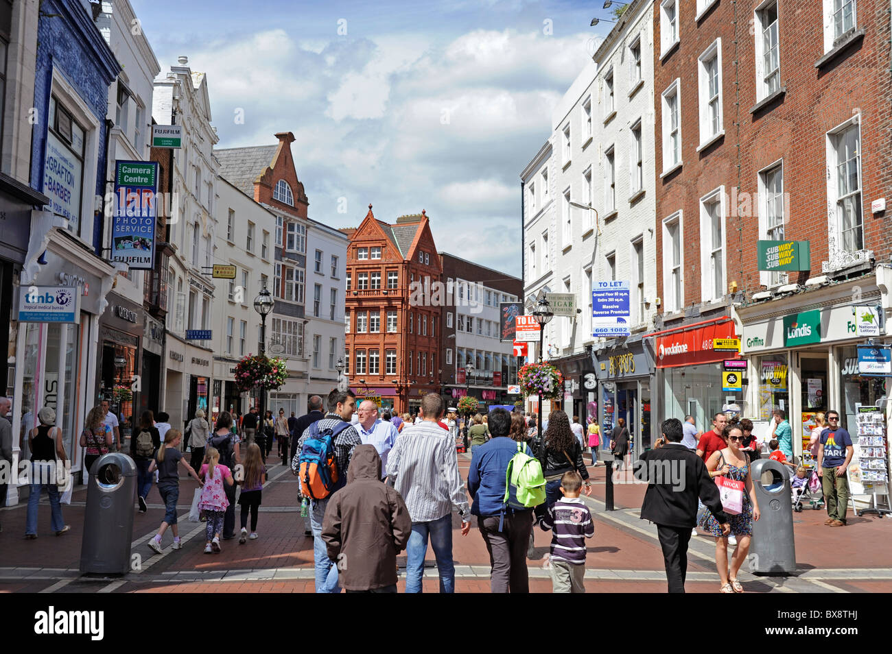
[[[797,457],[805,452],[810,459],[806,450],[817,413],[838,411],[841,426],[851,432],[860,407],[886,404],[888,378],[864,377],[857,364],[856,346],[869,338],[865,331],[875,328],[881,336],[875,282],[871,276],[737,309],[742,352],[757,380],[747,397],[750,417],[767,432],[772,412],[784,411]],[[874,316],[866,330],[859,324],[864,315]]]

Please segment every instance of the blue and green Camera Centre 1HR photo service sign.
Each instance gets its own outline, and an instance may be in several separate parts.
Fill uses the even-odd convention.
[[[111,262],[152,270],[155,258],[158,163],[116,161]]]

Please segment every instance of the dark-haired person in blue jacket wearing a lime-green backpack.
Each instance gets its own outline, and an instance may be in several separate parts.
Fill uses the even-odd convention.
[[[490,552],[492,593],[529,593],[526,547],[533,530],[533,509],[512,509],[504,502],[508,462],[517,444],[508,437],[511,414],[493,409],[489,414],[491,440],[476,446],[467,475],[467,491],[474,497],[471,513]],[[526,454],[533,456],[524,445]]]

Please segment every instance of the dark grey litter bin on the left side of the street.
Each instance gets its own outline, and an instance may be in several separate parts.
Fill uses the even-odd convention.
[[[136,463],[127,454],[103,454],[87,483],[87,514],[80,571],[124,575],[130,570]]]

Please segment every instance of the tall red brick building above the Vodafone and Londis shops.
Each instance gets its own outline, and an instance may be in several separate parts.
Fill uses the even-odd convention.
[[[871,211],[892,191],[888,12],[879,0],[655,3],[663,417],[692,402],[708,417],[733,396],[754,420],[784,409],[798,434],[829,405],[872,402],[843,371],[853,300],[889,304],[877,266],[892,252],[888,217]],[[804,241],[810,259],[760,270],[760,240]],[[749,361],[736,393],[716,363],[729,355],[705,351],[729,334]]]

